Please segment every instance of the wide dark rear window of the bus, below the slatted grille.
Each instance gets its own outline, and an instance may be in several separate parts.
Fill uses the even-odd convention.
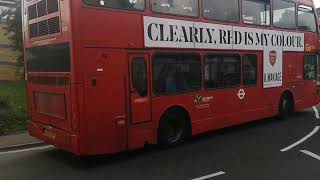
[[[40,46],[27,49],[27,71],[70,72],[69,44]]]

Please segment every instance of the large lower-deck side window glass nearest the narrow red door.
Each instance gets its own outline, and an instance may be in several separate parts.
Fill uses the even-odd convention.
[[[201,89],[198,55],[156,55],[153,59],[155,94],[176,94]]]

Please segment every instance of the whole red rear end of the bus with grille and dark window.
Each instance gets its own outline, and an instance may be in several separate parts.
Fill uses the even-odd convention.
[[[29,133],[77,153],[70,0],[23,0]]]

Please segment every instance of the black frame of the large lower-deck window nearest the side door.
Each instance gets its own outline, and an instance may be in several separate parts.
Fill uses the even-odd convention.
[[[183,58],[185,56],[193,56],[193,57],[197,57],[199,60],[199,73],[200,73],[200,81],[199,81],[199,88],[198,89],[193,89],[193,90],[189,90],[189,91],[180,91],[180,92],[164,92],[164,93],[159,93],[156,91],[155,89],[155,65],[157,63],[155,63],[155,59],[157,56],[177,56],[179,58]],[[185,63],[188,64],[188,63]],[[161,53],[161,52],[157,52],[154,53],[152,55],[152,60],[151,60],[151,67],[152,67],[152,93],[155,96],[175,96],[175,95],[180,95],[180,94],[190,94],[190,93],[195,93],[195,92],[200,92],[202,90],[202,83],[203,83],[203,74],[202,74],[202,66],[203,66],[203,62],[202,62],[202,56],[200,53]]]

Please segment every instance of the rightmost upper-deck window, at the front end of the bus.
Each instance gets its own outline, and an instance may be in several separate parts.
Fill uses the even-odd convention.
[[[311,7],[300,5],[298,7],[299,30],[317,32],[316,19]]]

